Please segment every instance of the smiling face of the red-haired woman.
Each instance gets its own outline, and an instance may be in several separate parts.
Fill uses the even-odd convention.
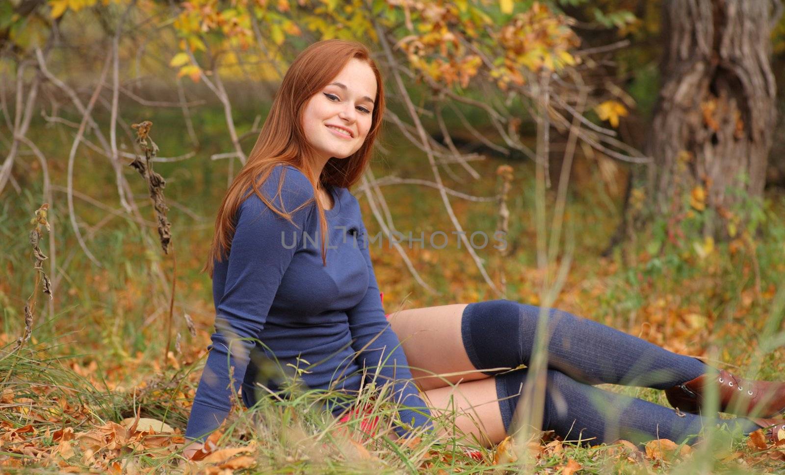
[[[302,114],[303,129],[320,160],[346,158],[360,149],[371,129],[374,97],[374,71],[354,58],[311,97]]]

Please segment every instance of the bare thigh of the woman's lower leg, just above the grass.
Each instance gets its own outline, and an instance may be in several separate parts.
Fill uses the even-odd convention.
[[[496,379],[484,378],[425,391],[425,400],[435,417],[444,416],[447,423],[440,434],[447,437],[468,435],[485,447],[503,441],[507,433],[496,396]]]

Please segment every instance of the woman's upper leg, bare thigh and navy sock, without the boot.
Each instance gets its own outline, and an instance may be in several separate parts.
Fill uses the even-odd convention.
[[[539,307],[506,299],[400,310],[389,316],[422,390],[503,371],[493,368],[528,364],[538,319]],[[549,367],[584,383],[667,389],[708,369],[695,358],[560,310],[550,310],[549,332]]]

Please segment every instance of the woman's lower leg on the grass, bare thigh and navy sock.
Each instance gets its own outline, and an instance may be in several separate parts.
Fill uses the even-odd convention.
[[[520,386],[527,370],[517,370],[491,378],[458,383],[425,391],[425,401],[433,415],[455,414],[442,435],[467,434],[480,444],[498,444],[509,433],[517,408]],[[566,441],[582,444],[610,444],[626,439],[636,444],[655,439],[692,443],[705,424],[727,423],[732,430],[748,434],[758,425],[748,419],[711,419],[699,415],[679,415],[673,409],[598,387],[579,383],[568,375],[549,370],[542,430],[553,430]],[[471,439],[469,439],[471,440]]]

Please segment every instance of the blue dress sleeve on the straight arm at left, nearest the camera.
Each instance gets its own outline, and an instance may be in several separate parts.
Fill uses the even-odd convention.
[[[188,418],[186,439],[203,442],[226,419],[243,383],[250,350],[301,243],[313,207],[294,209],[313,197],[313,188],[299,171],[288,169],[276,197],[281,168],[273,169],[261,190],[279,209],[283,203],[294,224],[269,209],[256,194],[239,206],[224,294],[216,305],[215,332]]]

